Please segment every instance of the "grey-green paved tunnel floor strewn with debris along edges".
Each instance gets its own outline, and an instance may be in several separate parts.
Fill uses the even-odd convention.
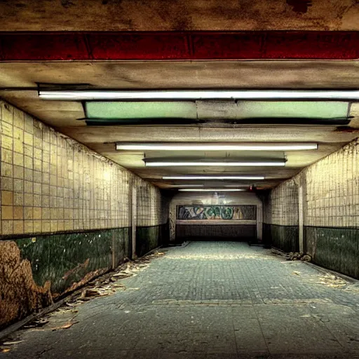
[[[41,330],[18,332],[22,342],[2,355],[359,358],[358,285],[270,250],[190,243],[121,282],[125,291],[80,304],[75,314],[55,312]],[[70,317],[72,327],[49,330]]]

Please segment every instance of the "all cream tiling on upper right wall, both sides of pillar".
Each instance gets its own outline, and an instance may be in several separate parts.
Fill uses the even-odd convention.
[[[304,225],[359,227],[359,140],[273,189],[264,222],[298,224],[299,186],[304,189]]]

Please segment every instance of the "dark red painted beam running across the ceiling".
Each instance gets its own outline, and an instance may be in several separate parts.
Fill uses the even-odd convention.
[[[0,61],[356,60],[359,32],[0,33]]]

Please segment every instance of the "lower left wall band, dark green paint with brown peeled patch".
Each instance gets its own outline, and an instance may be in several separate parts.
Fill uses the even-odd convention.
[[[117,266],[129,248],[128,228],[0,241],[0,327]]]

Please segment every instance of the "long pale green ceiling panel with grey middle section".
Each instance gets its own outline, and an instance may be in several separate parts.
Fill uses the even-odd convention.
[[[267,124],[348,124],[348,102],[339,101],[163,101],[85,102],[88,125],[189,124],[236,121]]]

